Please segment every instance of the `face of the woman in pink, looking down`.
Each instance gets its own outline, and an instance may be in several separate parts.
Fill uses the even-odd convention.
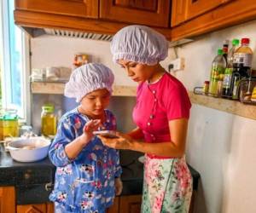
[[[148,66],[129,60],[119,60],[119,65],[125,69],[128,77],[135,82],[143,82],[152,77],[154,66]]]

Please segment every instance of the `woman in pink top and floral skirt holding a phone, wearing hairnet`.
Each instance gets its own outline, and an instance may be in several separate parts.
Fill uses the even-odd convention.
[[[166,38],[147,26],[127,26],[113,37],[111,52],[139,83],[137,128],[117,140],[101,139],[108,147],[145,153],[143,213],[189,212],[192,179],[184,152],[191,104],[183,84],[160,66]]]

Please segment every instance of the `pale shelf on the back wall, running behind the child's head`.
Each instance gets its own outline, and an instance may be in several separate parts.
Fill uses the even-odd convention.
[[[32,94],[64,94],[65,83],[51,83],[51,82],[32,82]],[[114,96],[135,96],[136,87],[132,86],[113,86]]]

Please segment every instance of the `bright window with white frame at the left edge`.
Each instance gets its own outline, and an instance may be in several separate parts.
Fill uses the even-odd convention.
[[[14,22],[14,0],[0,1],[1,107],[15,108],[30,123],[29,40]]]

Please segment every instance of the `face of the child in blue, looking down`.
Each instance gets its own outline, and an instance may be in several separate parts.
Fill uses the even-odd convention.
[[[80,110],[90,118],[101,118],[109,100],[108,89],[96,89],[84,96],[80,102]]]

